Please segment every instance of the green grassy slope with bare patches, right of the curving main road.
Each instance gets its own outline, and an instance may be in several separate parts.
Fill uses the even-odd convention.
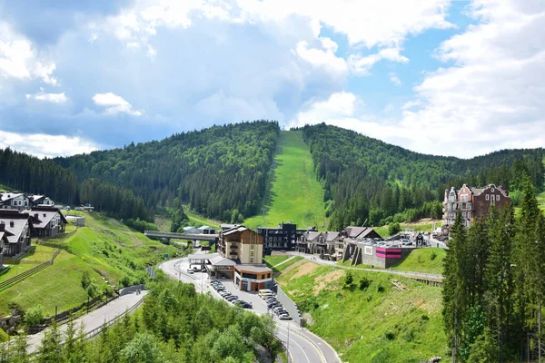
[[[342,289],[346,270],[302,261],[277,280],[299,305],[307,326],[342,354],[345,362],[421,362],[444,357],[441,289],[391,275],[351,270],[353,285]],[[359,289],[362,278],[371,280]]]

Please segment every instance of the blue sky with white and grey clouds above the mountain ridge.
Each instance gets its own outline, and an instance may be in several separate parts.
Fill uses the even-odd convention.
[[[470,158],[545,146],[544,0],[0,0],[0,147],[328,123]]]

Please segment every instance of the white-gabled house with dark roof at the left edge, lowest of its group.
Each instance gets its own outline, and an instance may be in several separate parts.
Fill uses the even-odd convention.
[[[7,244],[4,256],[16,257],[30,247],[30,234],[33,230],[28,214],[16,210],[0,210],[0,233],[4,233]]]

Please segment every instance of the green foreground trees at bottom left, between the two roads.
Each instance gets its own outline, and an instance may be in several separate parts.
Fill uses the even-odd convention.
[[[0,361],[252,363],[258,347],[273,358],[282,351],[269,315],[258,317],[197,294],[193,284],[160,280],[149,287],[142,309],[124,315],[94,339],[86,340],[74,322],[64,333],[53,325],[46,330],[37,355],[31,357],[26,336],[21,334],[9,344],[0,344]]]

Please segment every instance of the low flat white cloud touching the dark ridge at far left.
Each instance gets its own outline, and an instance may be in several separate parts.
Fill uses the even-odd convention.
[[[94,142],[78,136],[0,131],[0,148],[11,147],[38,157],[69,156],[98,149]]]

